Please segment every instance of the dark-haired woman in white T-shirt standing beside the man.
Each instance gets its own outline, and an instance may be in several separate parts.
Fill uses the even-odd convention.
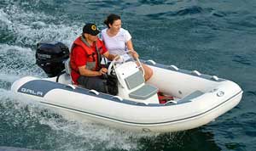
[[[127,50],[131,50],[131,54],[134,58],[138,58],[137,52],[134,50],[131,42],[131,34],[129,31],[121,28],[122,22],[121,18],[117,14],[109,14],[107,20],[104,24],[108,28],[102,30],[102,40],[108,48],[111,54],[121,54],[125,53]],[[151,70],[146,64],[142,64],[145,71],[145,81],[153,76],[153,70]]]

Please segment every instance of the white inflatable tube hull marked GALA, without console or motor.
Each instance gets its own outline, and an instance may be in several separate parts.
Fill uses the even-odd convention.
[[[120,101],[111,95],[69,87],[70,79],[24,77],[12,91],[29,97],[72,120],[90,120],[131,131],[183,131],[203,126],[234,108],[241,100],[241,88],[232,81],[175,66],[152,64],[154,76],[148,83],[174,96],[177,103]]]

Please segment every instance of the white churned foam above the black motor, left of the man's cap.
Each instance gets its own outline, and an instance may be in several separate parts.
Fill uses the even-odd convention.
[[[32,48],[41,41],[59,41],[70,46],[81,31],[78,25],[63,25],[58,17],[24,10],[18,5],[0,9],[0,20],[7,35],[15,37],[15,45]]]

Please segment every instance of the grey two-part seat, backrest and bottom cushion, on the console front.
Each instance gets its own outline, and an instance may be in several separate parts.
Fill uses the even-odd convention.
[[[142,71],[138,70],[135,74],[128,76],[125,78],[126,86],[129,90],[139,87],[140,85],[143,85],[142,87],[139,87],[135,91],[132,91],[129,93],[130,98],[135,99],[147,99],[152,97],[154,94],[158,92],[158,88],[154,87],[149,84],[144,83],[144,77]]]

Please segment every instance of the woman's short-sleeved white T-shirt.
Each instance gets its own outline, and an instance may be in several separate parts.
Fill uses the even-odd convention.
[[[102,41],[105,43],[108,52],[111,54],[125,53],[127,50],[126,42],[131,40],[129,31],[121,28],[115,36],[108,36],[107,30],[102,30]]]

